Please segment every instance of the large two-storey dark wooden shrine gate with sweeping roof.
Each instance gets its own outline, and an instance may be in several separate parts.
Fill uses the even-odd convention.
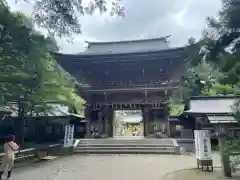
[[[85,99],[86,138],[91,124],[113,137],[116,110],[141,110],[145,137],[170,135],[169,96],[182,77],[186,47],[171,48],[168,37],[119,42],[86,42],[79,54],[54,53],[80,85]]]

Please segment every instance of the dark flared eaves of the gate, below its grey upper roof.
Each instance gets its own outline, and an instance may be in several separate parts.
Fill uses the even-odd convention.
[[[186,47],[113,54],[53,53],[56,61],[79,81],[103,88],[127,83],[166,82],[181,77]],[[125,85],[124,85],[125,84]]]

